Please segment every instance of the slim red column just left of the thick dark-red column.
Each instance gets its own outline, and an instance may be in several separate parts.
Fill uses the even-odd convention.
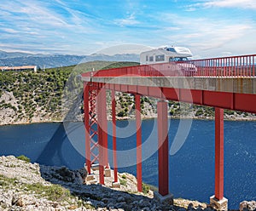
[[[137,138],[137,191],[143,191],[141,97],[135,94]]]

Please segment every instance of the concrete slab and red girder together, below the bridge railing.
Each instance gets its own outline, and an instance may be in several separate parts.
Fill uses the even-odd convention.
[[[255,77],[82,77],[96,88],[256,113]]]

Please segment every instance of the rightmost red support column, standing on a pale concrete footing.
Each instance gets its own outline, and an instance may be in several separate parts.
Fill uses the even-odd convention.
[[[215,197],[224,197],[224,110],[215,108]]]

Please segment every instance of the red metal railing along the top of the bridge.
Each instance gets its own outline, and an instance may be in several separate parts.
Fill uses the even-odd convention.
[[[256,54],[128,66],[87,72],[84,77],[255,77]]]

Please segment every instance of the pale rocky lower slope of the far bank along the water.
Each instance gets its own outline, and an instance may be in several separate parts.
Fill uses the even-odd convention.
[[[117,101],[117,112],[122,111],[123,108],[120,102],[121,95],[116,96]],[[121,97],[123,104],[127,104],[125,98],[129,96]],[[119,117],[117,115],[118,120],[125,120],[125,119],[135,119],[135,111],[132,109],[132,100],[129,97],[129,102],[131,106],[127,106],[127,114],[124,117]],[[80,105],[77,106],[75,112],[71,115],[72,121],[82,121],[83,114],[80,111]],[[111,115],[111,105],[108,102],[108,120],[112,119]],[[124,106],[124,105],[123,105]],[[36,106],[35,111],[32,111],[32,116],[28,117],[26,115],[26,111],[23,111],[20,106],[20,100],[15,98],[13,92],[3,92],[0,96],[0,126],[1,125],[13,125],[13,124],[28,124],[28,123],[60,123],[65,121],[64,115],[61,112],[61,109],[58,109],[53,112],[44,111],[44,106]],[[175,109],[174,109],[175,107]],[[199,120],[212,120],[214,119],[214,111],[205,111],[203,107],[197,107],[189,110],[189,104],[184,104],[181,106],[181,112],[178,112],[179,106],[172,105],[170,106],[169,117],[173,119],[199,119]],[[20,108],[20,109],[19,109]],[[172,115],[170,112],[172,111]],[[142,119],[148,118],[155,118],[157,117],[156,113],[156,104],[154,100],[146,100],[143,101],[142,105]],[[239,112],[239,111],[232,111],[229,113],[224,113],[224,119],[230,121],[256,121],[256,115],[253,113],[246,113],[246,112]]]

